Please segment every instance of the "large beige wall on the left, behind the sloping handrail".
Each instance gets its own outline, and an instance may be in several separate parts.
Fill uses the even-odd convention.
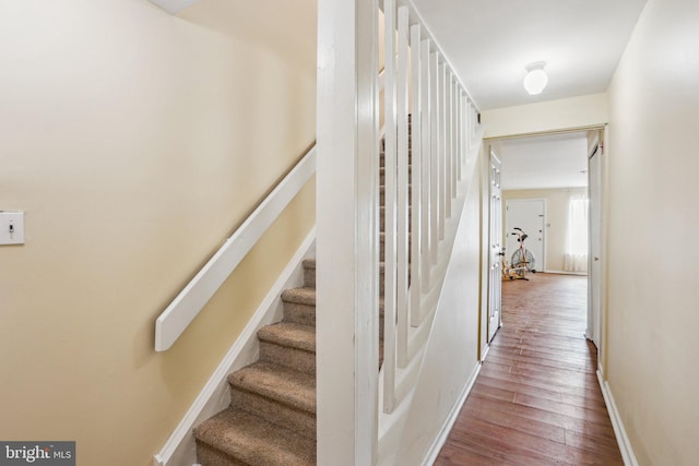
[[[0,3],[0,439],[150,465],[313,223],[311,182],[175,346],[154,320],[315,139],[316,2]]]

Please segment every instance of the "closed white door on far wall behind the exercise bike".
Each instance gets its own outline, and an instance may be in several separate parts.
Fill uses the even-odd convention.
[[[546,201],[543,199],[508,200],[505,208],[506,261],[510,262],[510,258],[520,247],[517,242],[517,236],[512,232],[514,228],[521,228],[529,236],[524,241],[524,247],[534,254],[535,270],[544,272]]]

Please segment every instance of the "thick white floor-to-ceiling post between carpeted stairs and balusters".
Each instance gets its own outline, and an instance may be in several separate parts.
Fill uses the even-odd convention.
[[[374,465],[378,438],[376,0],[318,2],[318,464]]]

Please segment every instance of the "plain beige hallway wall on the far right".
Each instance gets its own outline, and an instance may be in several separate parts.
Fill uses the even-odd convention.
[[[699,458],[697,24],[649,0],[608,89],[606,377],[641,466]]]

